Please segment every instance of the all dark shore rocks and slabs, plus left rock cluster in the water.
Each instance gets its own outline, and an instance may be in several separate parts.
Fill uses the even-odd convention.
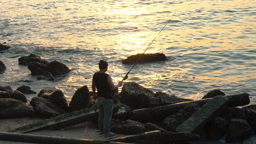
[[[36,54],[21,57],[19,64],[28,65],[31,74],[38,76],[37,80],[52,81],[56,76],[70,72],[64,64],[56,60],[49,62]],[[0,61],[0,73],[5,69]],[[60,90],[48,89],[42,89],[28,104],[25,95],[31,93],[36,92],[25,85],[17,89],[0,86],[0,119],[45,119],[9,132],[28,131],[49,121],[79,115],[33,131],[60,130],[88,120],[97,122],[97,102],[92,99],[86,85],[76,90],[69,104]],[[256,136],[256,105],[249,105],[247,93],[226,96],[220,90],[212,90],[202,100],[192,100],[163,92],[154,93],[135,82],[128,82],[123,84],[121,92],[113,92],[113,97],[110,129],[128,136],[106,142],[183,144],[224,139],[226,143],[248,143],[251,137]]]

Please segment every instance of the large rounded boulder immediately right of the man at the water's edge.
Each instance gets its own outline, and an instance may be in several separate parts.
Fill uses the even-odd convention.
[[[119,94],[122,103],[136,108],[142,108],[142,101],[145,96],[153,98],[154,95],[154,92],[135,82],[124,83]]]

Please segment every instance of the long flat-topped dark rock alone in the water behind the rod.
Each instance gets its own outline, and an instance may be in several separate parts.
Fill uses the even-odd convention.
[[[160,60],[167,60],[166,56],[163,53],[153,53],[153,54],[136,54],[129,56],[127,59],[122,60],[123,64],[134,64],[138,61],[138,63],[145,62],[154,62]]]

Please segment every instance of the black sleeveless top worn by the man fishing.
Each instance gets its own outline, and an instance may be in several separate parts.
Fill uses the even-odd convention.
[[[95,72],[93,75],[93,80],[97,88],[97,96],[102,96],[106,99],[112,99],[112,91],[108,83],[107,73]]]

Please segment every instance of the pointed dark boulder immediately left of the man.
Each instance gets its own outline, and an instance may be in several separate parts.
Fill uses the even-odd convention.
[[[90,92],[86,85],[78,88],[73,95],[69,107],[71,111],[88,108],[90,100]]]

